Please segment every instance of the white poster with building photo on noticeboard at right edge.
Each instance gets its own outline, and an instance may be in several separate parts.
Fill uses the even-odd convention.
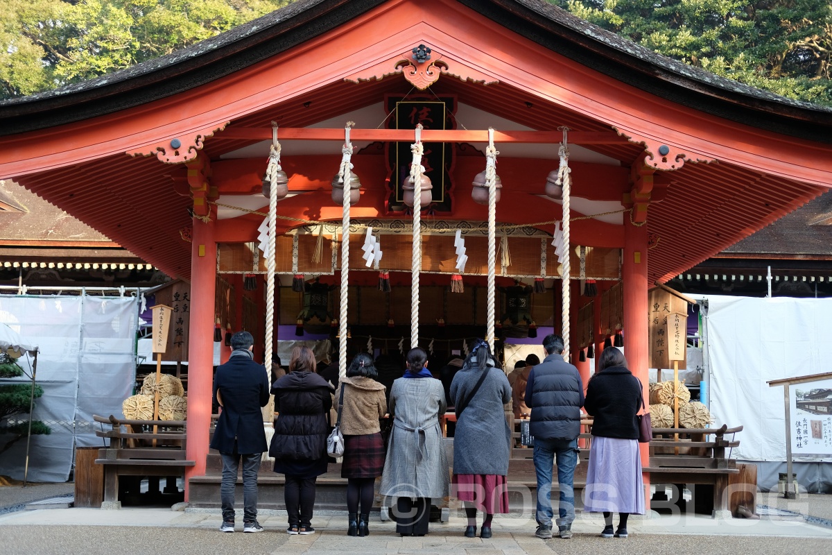
[[[832,455],[832,379],[789,388],[791,453]]]

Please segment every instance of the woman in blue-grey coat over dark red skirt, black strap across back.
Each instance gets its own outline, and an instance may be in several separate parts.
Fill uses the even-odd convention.
[[[466,538],[477,534],[477,509],[485,514],[480,538],[491,538],[494,513],[508,513],[506,475],[511,430],[503,404],[511,398],[506,374],[488,343],[480,339],[451,384],[451,399],[457,411],[453,488],[465,503]]]

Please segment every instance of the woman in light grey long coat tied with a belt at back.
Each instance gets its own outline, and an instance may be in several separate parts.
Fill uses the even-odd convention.
[[[396,532],[402,536],[428,533],[430,500],[448,494],[448,457],[439,428],[439,415],[448,405],[427,360],[424,349],[410,349],[407,371],[390,390],[388,410],[394,421],[380,493],[397,498]]]

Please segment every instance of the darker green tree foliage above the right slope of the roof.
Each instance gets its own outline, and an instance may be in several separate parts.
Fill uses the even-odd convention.
[[[832,106],[829,0],[548,0],[722,77]]]

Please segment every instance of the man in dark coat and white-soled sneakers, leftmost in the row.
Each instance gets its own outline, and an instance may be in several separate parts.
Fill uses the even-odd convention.
[[[261,407],[269,402],[269,377],[265,366],[255,363],[251,349],[255,338],[247,331],[231,337],[230,359],[216,369],[214,399],[222,406],[210,448],[222,458],[222,526],[234,532],[234,489],[237,468],[243,462],[243,532],[262,532],[257,522],[257,471],[265,444]]]

